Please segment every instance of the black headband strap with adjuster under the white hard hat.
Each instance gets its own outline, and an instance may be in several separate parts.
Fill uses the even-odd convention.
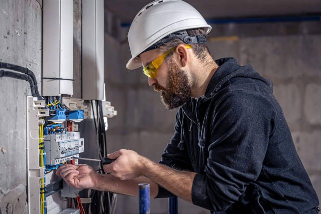
[[[186,30],[183,31],[179,31],[179,32],[175,32],[172,33],[168,36],[166,36],[165,38],[157,41],[156,43],[154,43],[153,45],[149,46],[147,49],[145,49],[143,52],[141,52],[140,54],[146,52],[146,51],[150,51],[153,49],[156,49],[162,45],[164,45],[165,43],[173,40],[173,39],[180,39],[182,40],[184,43],[186,44],[207,44],[206,42],[206,37],[205,36],[189,36]]]

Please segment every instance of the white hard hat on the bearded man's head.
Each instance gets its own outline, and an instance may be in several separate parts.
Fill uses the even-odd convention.
[[[183,30],[195,28],[206,28],[206,34],[212,29],[195,8],[182,0],[157,0],[146,5],[136,15],[128,32],[132,57],[126,68],[132,70],[141,67],[138,55],[148,48],[151,50],[150,47],[159,40],[180,31],[179,36],[174,37],[183,40],[187,36]],[[206,43],[199,37],[189,37],[187,41],[191,41],[189,44]],[[186,40],[184,42],[187,43]],[[155,47],[158,46],[159,44]]]

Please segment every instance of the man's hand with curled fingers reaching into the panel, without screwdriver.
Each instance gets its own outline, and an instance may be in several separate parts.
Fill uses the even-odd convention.
[[[61,176],[68,185],[78,189],[94,188],[98,179],[94,169],[85,164],[59,166],[56,174]]]

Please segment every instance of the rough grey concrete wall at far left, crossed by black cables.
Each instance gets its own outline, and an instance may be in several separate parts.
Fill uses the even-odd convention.
[[[41,90],[42,1],[0,0],[0,61],[27,66]],[[0,212],[27,213],[28,82],[0,78]]]

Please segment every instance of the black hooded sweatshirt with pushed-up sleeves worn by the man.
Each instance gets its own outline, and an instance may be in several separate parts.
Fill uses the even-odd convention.
[[[196,172],[192,202],[211,213],[317,213],[271,81],[234,58],[215,62],[205,95],[180,107],[160,163]],[[157,197],[170,196],[159,186]]]

